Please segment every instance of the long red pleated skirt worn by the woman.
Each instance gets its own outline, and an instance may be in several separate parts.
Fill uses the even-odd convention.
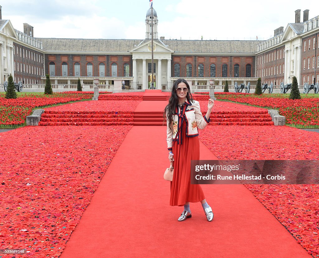
[[[183,206],[186,202],[197,203],[205,199],[199,184],[190,183],[190,161],[199,160],[199,140],[186,137],[186,123],[182,124],[182,144],[173,146],[174,174],[171,182],[171,206]]]

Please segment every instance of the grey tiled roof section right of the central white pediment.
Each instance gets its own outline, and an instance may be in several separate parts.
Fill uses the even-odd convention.
[[[175,53],[251,53],[255,54],[258,40],[162,40]]]

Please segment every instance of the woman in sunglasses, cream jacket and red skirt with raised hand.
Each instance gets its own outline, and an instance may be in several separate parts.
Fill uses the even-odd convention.
[[[214,216],[211,207],[205,200],[201,186],[190,183],[190,161],[199,160],[197,127],[204,129],[208,125],[213,106],[214,101],[209,99],[208,110],[203,117],[198,101],[192,99],[187,81],[178,79],[174,82],[165,114],[167,118],[168,159],[171,164],[174,164],[170,205],[184,205],[184,211],[178,221],[192,217],[189,202],[200,201],[208,221],[211,221]]]

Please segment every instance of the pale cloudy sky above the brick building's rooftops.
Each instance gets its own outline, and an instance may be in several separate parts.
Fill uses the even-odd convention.
[[[36,38],[144,39],[149,0],[2,0],[2,19]],[[315,7],[317,6],[317,7]],[[295,10],[319,15],[317,0],[153,0],[165,39],[266,40],[295,22]]]

